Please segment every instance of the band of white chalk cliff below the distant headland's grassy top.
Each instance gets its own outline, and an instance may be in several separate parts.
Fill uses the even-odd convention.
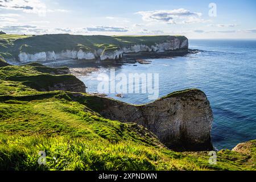
[[[60,52],[48,51],[38,52],[34,54],[20,52],[18,55],[21,63],[30,61],[48,61],[57,59],[85,59],[85,60],[117,60],[121,59],[123,53],[138,53],[138,52],[164,52],[177,49],[187,49],[188,40],[179,40],[174,38],[169,42],[155,43],[154,46],[146,46],[143,44],[137,44],[130,47],[122,47],[114,51],[104,51],[102,49],[94,50],[93,52],[84,52],[81,49],[76,50],[63,50]]]

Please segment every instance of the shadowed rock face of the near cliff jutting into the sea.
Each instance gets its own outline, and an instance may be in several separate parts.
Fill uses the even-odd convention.
[[[134,106],[99,98],[100,114],[121,122],[135,122],[152,131],[177,151],[213,150],[213,114],[207,96],[197,89],[172,93],[147,105]]]

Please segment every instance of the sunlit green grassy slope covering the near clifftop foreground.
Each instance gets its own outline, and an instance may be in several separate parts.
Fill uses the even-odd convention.
[[[141,126],[102,118],[92,110],[97,97],[38,92],[7,79],[43,76],[47,70],[42,73],[31,65],[0,68],[0,169],[255,169],[256,141],[248,154],[222,150],[217,165],[210,165],[208,152],[170,151]],[[38,165],[39,151],[46,151],[46,165]]]

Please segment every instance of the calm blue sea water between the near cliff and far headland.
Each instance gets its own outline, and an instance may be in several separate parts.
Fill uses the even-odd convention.
[[[256,40],[190,40],[184,57],[151,59],[148,65],[116,67],[117,73],[159,73],[159,97],[176,90],[199,88],[213,109],[212,140],[217,149],[256,139]],[[110,69],[100,72],[110,74]],[[80,77],[88,92],[97,92],[98,73]],[[131,104],[150,102],[148,94],[109,97]]]

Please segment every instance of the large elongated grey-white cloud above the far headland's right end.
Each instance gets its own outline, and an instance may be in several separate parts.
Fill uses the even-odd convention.
[[[168,24],[204,22],[204,20],[201,19],[201,13],[185,9],[139,11],[135,14],[142,15],[142,19],[148,22],[156,21]]]

